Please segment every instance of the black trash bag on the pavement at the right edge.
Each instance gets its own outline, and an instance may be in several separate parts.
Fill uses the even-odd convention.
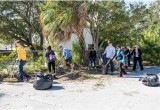
[[[159,86],[159,78],[156,74],[146,73],[146,76],[140,78],[139,81],[142,81],[142,84],[150,87]]]

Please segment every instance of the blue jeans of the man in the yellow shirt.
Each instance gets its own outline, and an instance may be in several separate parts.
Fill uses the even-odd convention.
[[[26,64],[26,61],[19,62],[19,79],[23,80],[23,77],[29,78],[30,76],[23,71],[23,66]]]

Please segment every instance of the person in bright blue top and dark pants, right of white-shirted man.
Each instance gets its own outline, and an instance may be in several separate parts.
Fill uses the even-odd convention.
[[[124,55],[124,51],[121,50],[120,46],[116,47],[116,60],[119,62],[119,76],[123,77],[123,75],[126,75],[127,73],[124,70],[124,64],[126,63],[126,58]]]

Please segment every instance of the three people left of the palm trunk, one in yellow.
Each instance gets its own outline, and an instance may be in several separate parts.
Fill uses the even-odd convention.
[[[18,70],[19,70],[19,77],[18,82],[23,82],[24,78],[26,78],[26,81],[29,81],[31,79],[31,76],[28,75],[26,72],[23,71],[23,67],[26,64],[26,50],[21,45],[21,42],[18,40],[15,42],[15,46],[17,48],[18,53]],[[71,72],[73,72],[73,64],[72,64],[72,53],[69,49],[63,48],[63,46],[59,46],[59,50],[62,51],[62,56],[65,59],[66,63],[68,63],[71,67]],[[56,60],[56,54],[54,50],[51,49],[51,46],[47,47],[45,57],[47,59],[48,63],[48,71],[49,73],[54,74],[54,79],[57,79],[56,77],[56,69],[55,69],[55,60]],[[53,72],[52,72],[53,71]]]

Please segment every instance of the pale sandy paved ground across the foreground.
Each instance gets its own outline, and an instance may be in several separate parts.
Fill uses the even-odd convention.
[[[156,67],[127,78],[59,80],[41,91],[32,83],[0,83],[0,110],[160,110],[160,87],[144,86],[135,78],[152,70],[160,72]]]

